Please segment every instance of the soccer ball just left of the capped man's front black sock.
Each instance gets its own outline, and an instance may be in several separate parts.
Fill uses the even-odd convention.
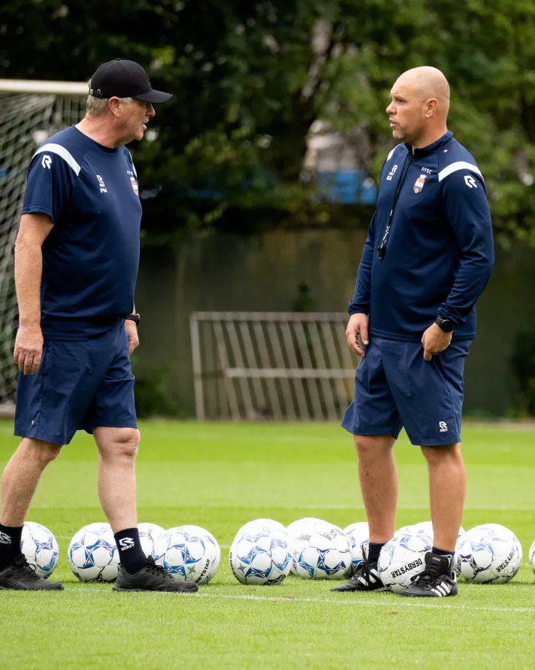
[[[115,581],[119,552],[110,524],[83,526],[71,539],[67,558],[80,581]]]

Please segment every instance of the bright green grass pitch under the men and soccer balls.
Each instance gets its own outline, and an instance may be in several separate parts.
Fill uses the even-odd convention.
[[[365,519],[352,441],[329,425],[141,426],[139,521],[198,524],[223,550],[218,574],[194,596],[116,594],[79,584],[66,547],[104,519],[96,496],[96,449],[78,434],[45,472],[29,520],[60,544],[62,593],[0,592],[2,666],[39,668],[531,668],[535,653],[535,431],[464,429],[469,493],[465,528],[496,522],[524,548],[509,584],[461,584],[459,596],[404,601],[394,594],[332,594],[330,583],[290,576],[279,586],[238,584],[228,547],[260,516],[289,524],[320,516],[340,526]],[[16,446],[0,423],[0,464]],[[396,448],[397,525],[429,518],[427,472],[406,438]]]

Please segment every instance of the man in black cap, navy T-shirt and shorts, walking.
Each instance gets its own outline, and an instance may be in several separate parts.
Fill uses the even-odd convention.
[[[139,442],[129,355],[138,346],[134,290],[141,204],[125,144],[142,139],[154,91],[133,61],[101,65],[88,113],[34,154],[15,248],[19,449],[1,482],[0,588],[57,590],[21,554],[41,473],[77,430],[98,447],[98,495],[116,538],[119,591],[197,591],[146,559],[136,518]]]

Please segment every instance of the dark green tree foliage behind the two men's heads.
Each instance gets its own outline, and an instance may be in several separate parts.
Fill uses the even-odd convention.
[[[174,92],[151,121],[158,141],[134,147],[143,189],[163,186],[146,201],[153,242],[233,221],[327,224],[340,212],[300,183],[311,124],[358,140],[377,175],[390,87],[437,66],[498,238],[535,241],[534,24],[531,0],[8,0],[0,62],[4,76],[83,80],[121,56]]]

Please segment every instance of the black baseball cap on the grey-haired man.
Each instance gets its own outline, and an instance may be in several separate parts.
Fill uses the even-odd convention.
[[[134,63],[117,58],[99,66],[91,77],[89,94],[96,98],[136,98],[145,102],[165,102],[170,93],[155,91],[146,71]]]

